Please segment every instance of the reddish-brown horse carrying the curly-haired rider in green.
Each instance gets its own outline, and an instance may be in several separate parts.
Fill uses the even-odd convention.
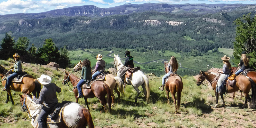
[[[80,79],[74,74],[65,71],[65,76],[62,84],[68,84],[68,82],[70,81],[71,84],[73,85],[73,92],[75,93],[75,97],[76,97],[78,96],[78,90],[76,88],[76,84],[78,83],[79,80]],[[105,84],[102,81],[94,81],[91,85],[91,88],[83,89],[84,101],[89,110],[90,108],[88,106],[87,98],[97,97],[100,100],[100,103],[102,104],[105,112],[107,112],[107,107],[106,107],[107,100],[105,98],[107,94],[108,94],[108,109],[109,109],[109,112],[111,112],[112,99],[110,96],[111,92],[107,84]],[[76,103],[78,103],[78,98],[76,98]]]

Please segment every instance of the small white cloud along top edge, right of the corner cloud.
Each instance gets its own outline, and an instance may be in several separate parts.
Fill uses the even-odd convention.
[[[50,0],[50,1],[42,0],[40,2],[43,4],[50,5],[50,6],[59,6],[60,4],[82,4],[82,3],[85,3],[82,0]]]

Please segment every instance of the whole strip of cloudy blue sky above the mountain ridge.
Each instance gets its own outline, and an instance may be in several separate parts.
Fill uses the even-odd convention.
[[[95,5],[109,8],[127,3],[166,4],[256,4],[256,0],[0,0],[0,15],[13,13],[37,13],[72,6]]]

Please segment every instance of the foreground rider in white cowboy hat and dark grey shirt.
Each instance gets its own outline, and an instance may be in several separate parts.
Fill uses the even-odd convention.
[[[52,78],[50,76],[43,74],[40,76],[40,78],[37,78],[37,80],[40,84],[43,84],[44,87],[40,91],[38,99],[35,96],[32,96],[32,99],[36,104],[44,103],[44,107],[39,114],[37,121],[39,128],[47,128],[45,118],[50,114],[54,106],[58,103],[56,92],[60,93],[61,88],[56,84],[51,83]]]

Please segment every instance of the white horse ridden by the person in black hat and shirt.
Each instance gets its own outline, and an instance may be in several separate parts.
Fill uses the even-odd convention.
[[[114,55],[114,62],[115,62],[115,67],[117,68],[117,76],[122,78],[122,76],[120,76],[120,69],[124,66],[124,64],[121,62],[121,59],[119,57],[119,55]],[[146,101],[148,102],[149,99],[149,95],[150,95],[150,87],[149,87],[149,82],[148,82],[148,77],[146,75],[144,75],[144,73],[140,70],[132,73],[132,76],[128,79],[125,79],[126,83],[128,85],[132,85],[132,87],[137,91],[137,95],[135,97],[135,102],[137,102],[137,99],[140,95],[140,90],[139,90],[139,86],[142,86],[142,89],[144,91],[145,96],[147,96]],[[124,86],[125,87],[125,86]]]

